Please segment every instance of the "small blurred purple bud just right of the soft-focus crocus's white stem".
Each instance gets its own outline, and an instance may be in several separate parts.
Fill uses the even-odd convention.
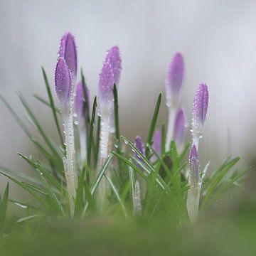
[[[179,109],[176,114],[176,118],[174,122],[174,140],[177,144],[179,145],[183,144],[185,132],[186,132],[185,113],[182,109]]]

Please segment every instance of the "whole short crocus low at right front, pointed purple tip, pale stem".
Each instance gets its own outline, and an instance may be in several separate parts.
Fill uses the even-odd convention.
[[[199,208],[200,189],[201,189],[198,151],[196,150],[195,145],[191,147],[188,165],[189,165],[188,184],[190,188],[188,190],[186,207],[188,210],[189,219],[191,220],[191,222],[194,222],[198,218],[198,208]]]

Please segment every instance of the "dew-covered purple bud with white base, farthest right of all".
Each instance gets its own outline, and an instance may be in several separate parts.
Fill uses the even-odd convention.
[[[203,126],[206,121],[206,113],[208,109],[208,88],[205,83],[199,85],[193,100],[192,108],[192,136],[193,144],[198,149],[198,141],[203,137]]]

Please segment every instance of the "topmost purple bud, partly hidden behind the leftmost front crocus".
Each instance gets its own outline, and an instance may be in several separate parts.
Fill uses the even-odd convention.
[[[70,69],[72,81],[75,83],[78,71],[78,57],[75,38],[71,33],[65,33],[60,41],[59,58],[63,58]]]

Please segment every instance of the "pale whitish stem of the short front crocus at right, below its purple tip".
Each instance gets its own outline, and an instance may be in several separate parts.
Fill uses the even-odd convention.
[[[192,177],[190,174],[188,184],[190,188],[188,190],[186,207],[189,220],[191,223],[194,223],[198,218],[201,182],[199,178]]]

